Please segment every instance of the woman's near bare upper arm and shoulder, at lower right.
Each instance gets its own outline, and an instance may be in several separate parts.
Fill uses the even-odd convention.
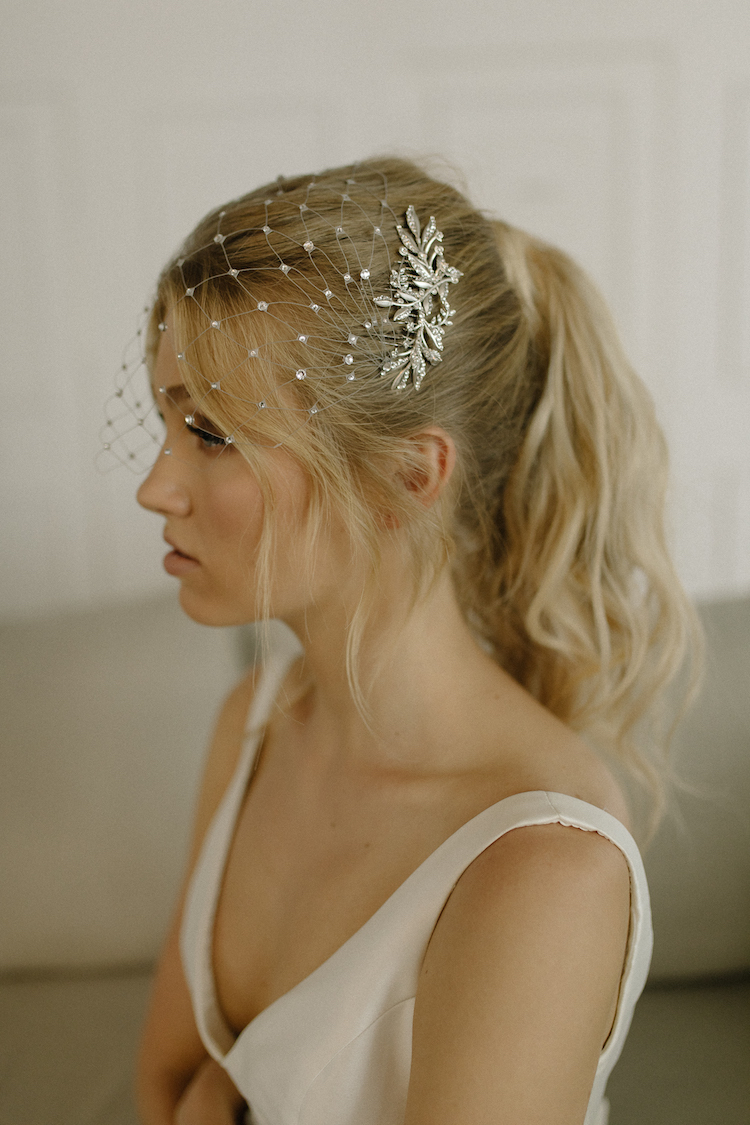
[[[581,1125],[629,921],[627,864],[595,832],[517,828],[487,848],[425,955],[405,1125]]]

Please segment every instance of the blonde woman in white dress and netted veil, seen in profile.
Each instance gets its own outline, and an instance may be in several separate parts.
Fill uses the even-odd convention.
[[[218,721],[143,1122],[603,1125],[650,921],[599,752],[654,776],[693,619],[600,298],[373,160],[204,219],[147,352],[182,608],[299,642]]]

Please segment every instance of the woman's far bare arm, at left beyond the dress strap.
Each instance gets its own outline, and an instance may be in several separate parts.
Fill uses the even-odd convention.
[[[234,774],[253,686],[251,672],[225,701],[209,748],[196,809],[188,872],[156,968],[141,1040],[136,1089],[143,1125],[174,1125],[178,1102],[193,1076],[199,1077],[201,1068],[200,1096],[205,1097],[207,1089],[216,1084],[210,1081],[213,1066],[196,1027],[182,972],[179,934],[190,874],[211,818]],[[195,1091],[191,1100],[197,1100]]]

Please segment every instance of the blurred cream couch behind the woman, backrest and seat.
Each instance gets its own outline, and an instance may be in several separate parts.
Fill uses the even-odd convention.
[[[678,744],[696,792],[647,855],[657,944],[611,1125],[750,1123],[750,600],[702,613],[711,667]],[[0,636],[0,1125],[135,1125],[150,966],[252,636],[171,601]]]

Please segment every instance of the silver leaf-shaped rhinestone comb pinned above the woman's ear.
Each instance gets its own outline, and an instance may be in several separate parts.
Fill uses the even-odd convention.
[[[404,390],[409,379],[418,390],[426,364],[442,362],[445,326],[453,323],[454,313],[448,303],[448,287],[463,276],[443,256],[443,232],[437,230],[434,215],[423,232],[417,213],[409,206],[406,223],[408,231],[396,226],[404,261],[390,271],[390,296],[374,298],[381,308],[396,308],[391,320],[395,324],[404,324],[404,340],[391,350],[380,369],[381,375],[396,372],[391,384],[394,390]]]

